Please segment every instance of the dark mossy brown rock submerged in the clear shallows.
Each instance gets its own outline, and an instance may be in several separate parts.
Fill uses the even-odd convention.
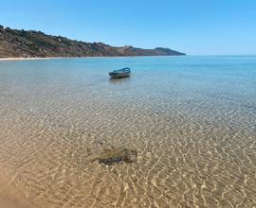
[[[137,162],[137,151],[128,148],[105,149],[96,160],[104,165],[114,165],[120,162],[135,163]]]

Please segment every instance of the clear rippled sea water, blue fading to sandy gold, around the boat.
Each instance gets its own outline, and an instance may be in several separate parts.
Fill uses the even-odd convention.
[[[38,207],[256,206],[256,57],[0,61],[0,118],[1,172]]]

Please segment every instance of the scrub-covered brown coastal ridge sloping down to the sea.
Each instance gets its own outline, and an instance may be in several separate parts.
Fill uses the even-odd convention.
[[[33,57],[125,57],[183,56],[169,48],[142,49],[133,46],[116,47],[105,43],[85,43],[41,31],[18,30],[0,26],[0,58]]]

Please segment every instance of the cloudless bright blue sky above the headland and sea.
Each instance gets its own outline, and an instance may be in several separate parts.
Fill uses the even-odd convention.
[[[0,25],[189,55],[256,54],[256,0],[0,0]]]

